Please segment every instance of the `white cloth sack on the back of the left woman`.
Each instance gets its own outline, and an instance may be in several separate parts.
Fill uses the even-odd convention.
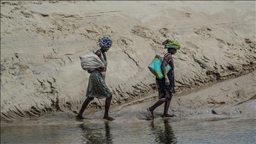
[[[99,67],[105,67],[104,63],[95,54],[80,56],[81,67],[85,71],[94,71]]]

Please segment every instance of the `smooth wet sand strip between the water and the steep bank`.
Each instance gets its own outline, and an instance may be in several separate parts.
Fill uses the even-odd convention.
[[[219,96],[211,97],[211,99],[219,100],[213,103],[204,103],[203,101],[209,102],[209,97],[211,95],[211,91],[215,91],[216,89],[223,89],[223,91],[219,91],[222,95],[230,95],[229,93],[239,93],[243,92],[243,89],[248,87],[249,85],[255,86],[256,81],[253,79],[256,75],[256,71],[249,73],[247,75],[243,75],[241,77],[237,77],[234,79],[229,79],[226,81],[222,81],[220,83],[216,83],[215,85],[211,85],[205,89],[199,89],[197,91],[193,91],[191,93],[187,93],[184,95],[174,96],[171,105],[169,107],[169,111],[171,113],[175,113],[177,117],[174,119],[211,119],[211,118],[235,118],[235,119],[256,119],[256,109],[255,107],[251,107],[256,102],[256,93],[255,91],[246,91],[247,93],[251,93],[251,95],[244,95],[247,99],[226,99],[221,101],[221,99],[216,99]],[[242,85],[246,83],[246,85]],[[225,89],[223,85],[231,86],[241,85],[240,87],[233,87],[233,89]],[[253,90],[253,89],[251,89]],[[197,97],[197,100],[193,100]],[[151,95],[147,95],[147,97],[143,97],[141,99],[137,99],[135,101],[131,101],[129,103],[123,103],[121,105],[117,105],[111,107],[110,115],[115,117],[115,121],[113,123],[131,123],[131,122],[139,122],[139,121],[147,121],[150,118],[149,113],[147,112],[147,107],[153,105],[157,101],[157,91],[155,93],[151,93]],[[186,102],[187,101],[187,102]],[[229,101],[225,105],[225,101]],[[183,103],[184,102],[184,103]],[[197,103],[200,102],[201,104]],[[183,105],[181,105],[183,103]],[[194,105],[197,103],[196,105]],[[223,104],[224,103],[224,104]],[[225,107],[223,107],[225,105]],[[194,106],[194,107],[193,107]],[[230,109],[234,107],[243,107],[244,109],[240,109],[242,113],[234,113],[235,109],[233,109],[232,113],[230,113]],[[160,117],[163,111],[163,105],[157,108],[154,112],[155,119],[163,119]],[[213,113],[213,111],[216,111]],[[75,113],[71,111],[57,112],[49,115],[44,115],[43,117],[35,117],[31,119],[23,119],[19,121],[14,121],[12,123],[1,121],[1,127],[11,127],[11,126],[29,126],[29,125],[72,125],[79,123],[101,123],[105,120],[101,119],[104,110],[99,110],[91,113],[83,113],[86,119],[81,121],[75,119]],[[191,115],[191,113],[193,113]],[[172,119],[172,118],[171,118]],[[111,121],[112,123],[112,121]]]

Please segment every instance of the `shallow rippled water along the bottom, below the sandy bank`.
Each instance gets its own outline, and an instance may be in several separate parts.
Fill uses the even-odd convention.
[[[255,143],[256,119],[155,119],[139,123],[1,127],[1,143]]]

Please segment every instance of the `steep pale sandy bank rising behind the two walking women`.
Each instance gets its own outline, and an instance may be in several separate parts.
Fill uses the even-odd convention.
[[[112,105],[155,91],[147,65],[166,53],[167,38],[181,43],[173,57],[182,95],[255,71],[255,1],[1,1],[1,122],[79,111],[89,79],[79,56],[99,49],[101,37],[113,40]],[[244,91],[255,99],[255,87]],[[212,103],[225,101],[215,96]]]

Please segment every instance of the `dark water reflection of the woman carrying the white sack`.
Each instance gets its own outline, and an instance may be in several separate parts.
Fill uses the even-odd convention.
[[[105,122],[105,129],[103,129],[103,125],[99,127],[98,125],[95,125],[93,127],[92,125],[79,125],[82,129],[82,135],[87,143],[113,143],[112,139],[113,136],[111,135],[109,126],[109,122]],[[105,135],[105,137],[103,136]]]

